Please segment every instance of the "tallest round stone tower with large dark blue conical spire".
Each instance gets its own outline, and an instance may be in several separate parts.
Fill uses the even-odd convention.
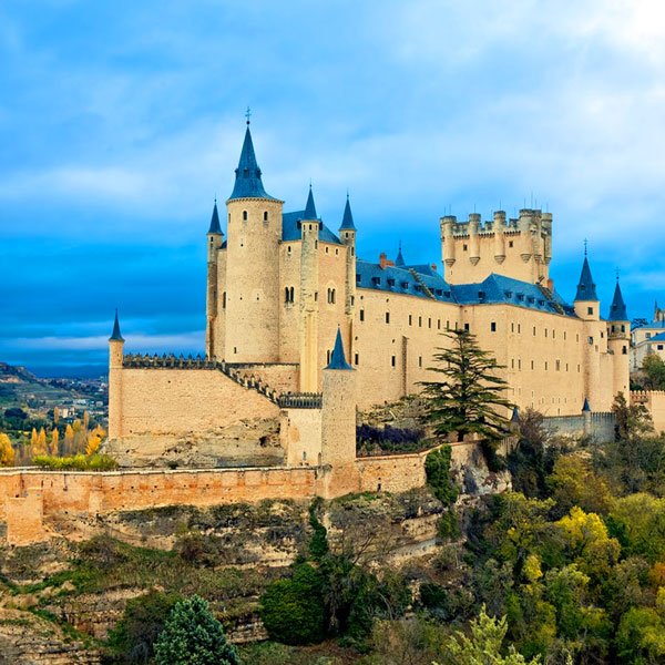
[[[249,121],[228,201],[224,360],[279,360],[282,201],[266,193]],[[216,351],[216,346],[213,349]],[[219,356],[218,352],[213,355]]]

